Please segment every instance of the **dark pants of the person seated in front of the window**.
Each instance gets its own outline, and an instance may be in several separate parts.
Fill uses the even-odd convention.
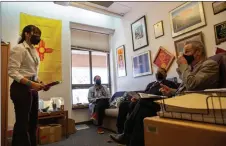
[[[103,124],[105,109],[109,107],[108,99],[99,99],[95,105],[95,113],[97,113],[97,126],[101,126]]]

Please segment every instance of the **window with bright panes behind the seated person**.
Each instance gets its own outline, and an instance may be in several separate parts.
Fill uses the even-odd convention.
[[[111,89],[109,68],[108,53],[72,49],[73,107],[88,103],[88,91],[96,75],[100,75],[102,84]]]

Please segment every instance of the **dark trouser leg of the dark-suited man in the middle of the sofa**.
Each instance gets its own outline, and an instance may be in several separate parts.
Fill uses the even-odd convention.
[[[126,117],[128,114],[132,113],[134,107],[136,106],[136,103],[137,102],[123,101],[120,104],[118,118],[117,118],[117,124],[116,124],[116,126],[118,128],[118,133],[123,133]]]

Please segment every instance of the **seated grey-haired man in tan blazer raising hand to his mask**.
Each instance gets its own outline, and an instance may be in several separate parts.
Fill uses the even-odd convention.
[[[211,59],[206,59],[204,46],[198,41],[185,43],[184,54],[177,60],[182,84],[177,89],[172,89],[161,84],[160,91],[167,96],[176,96],[183,91],[205,90],[217,88],[219,84],[219,66]],[[124,133],[116,135],[113,140],[118,143],[126,143],[127,146],[144,146],[145,117],[156,116],[158,105],[155,102],[147,102],[140,99],[133,112],[125,122]]]

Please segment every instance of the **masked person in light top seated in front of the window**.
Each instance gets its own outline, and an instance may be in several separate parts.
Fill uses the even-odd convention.
[[[101,85],[101,77],[94,77],[95,85],[89,88],[88,101],[94,104],[92,119],[97,119],[97,133],[103,134],[104,131],[100,127],[103,124],[105,109],[109,107],[110,93],[106,86]]]

